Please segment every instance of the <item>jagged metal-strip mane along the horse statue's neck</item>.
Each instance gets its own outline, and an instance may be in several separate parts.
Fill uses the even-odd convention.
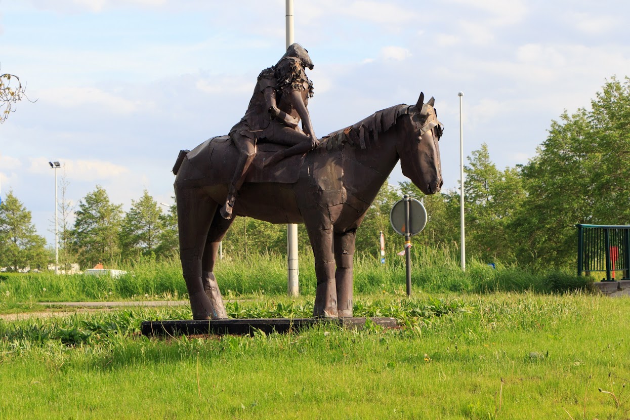
[[[401,104],[376,111],[360,122],[350,125],[350,127],[325,135],[319,141],[318,149],[331,150],[344,143],[358,145],[361,149],[366,149],[370,142],[379,139],[380,133],[386,132],[392,125],[396,124],[399,116],[408,113],[409,108],[409,105]]]

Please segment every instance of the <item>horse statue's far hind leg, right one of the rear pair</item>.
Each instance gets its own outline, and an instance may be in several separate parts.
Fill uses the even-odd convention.
[[[223,297],[221,296],[217,278],[214,275],[214,263],[217,261],[219,244],[226,235],[227,229],[229,229],[232,222],[234,222],[234,219],[234,217],[231,219],[221,217],[219,206],[217,205],[203,249],[201,281],[203,290],[205,290],[205,294],[212,303],[217,318],[227,318],[227,312],[223,304]]]

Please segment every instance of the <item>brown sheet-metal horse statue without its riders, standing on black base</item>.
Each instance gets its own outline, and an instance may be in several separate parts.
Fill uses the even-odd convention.
[[[433,98],[396,105],[321,139],[319,147],[264,166],[278,145],[258,145],[234,213],[272,223],[304,223],[315,257],[313,315],[351,317],[355,234],[400,159],[403,174],[425,194],[440,191],[438,139],[442,126]],[[236,164],[227,136],[192,151],[173,167],[180,257],[194,319],[226,318],[214,275],[219,242],[232,220],[219,214]]]

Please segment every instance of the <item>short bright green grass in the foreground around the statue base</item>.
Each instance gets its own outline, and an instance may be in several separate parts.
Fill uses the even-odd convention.
[[[301,315],[311,304],[260,298],[228,310]],[[360,299],[355,312],[395,314],[401,327],[147,339],[142,319],[188,310],[0,321],[0,417],[630,418],[630,299],[418,293]]]

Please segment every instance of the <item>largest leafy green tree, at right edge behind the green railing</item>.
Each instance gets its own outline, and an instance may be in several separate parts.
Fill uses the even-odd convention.
[[[518,253],[538,268],[575,263],[575,224],[630,223],[630,79],[613,77],[591,108],[552,122],[522,169]]]

